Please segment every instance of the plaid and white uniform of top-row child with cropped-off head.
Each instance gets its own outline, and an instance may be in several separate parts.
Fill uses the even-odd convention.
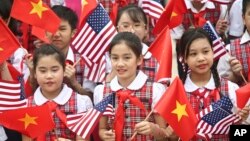
[[[186,4],[188,13],[184,14],[182,24],[171,30],[171,36],[173,39],[181,38],[182,34],[192,25],[190,20],[193,22],[193,24],[195,24],[197,19],[195,20],[194,17],[198,13],[203,13],[203,11],[205,11],[203,14],[201,14],[202,17],[205,20],[211,21],[211,23],[214,24],[214,26],[216,25],[219,19],[224,19],[226,15],[226,10],[227,10],[226,5],[216,4],[210,1],[206,1],[201,10],[197,11],[192,5],[190,0],[184,0],[184,2]]]

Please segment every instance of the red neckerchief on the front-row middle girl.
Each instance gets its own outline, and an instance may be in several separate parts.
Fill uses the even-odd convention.
[[[129,101],[139,107],[140,109],[144,110],[146,112],[146,109],[143,105],[143,103],[134,95],[131,95],[133,91],[131,90],[119,90],[116,93],[116,96],[118,98],[118,108],[116,111],[116,117],[114,121],[114,128],[115,128],[115,137],[116,141],[122,141],[122,130],[124,125],[124,102],[129,99]]]

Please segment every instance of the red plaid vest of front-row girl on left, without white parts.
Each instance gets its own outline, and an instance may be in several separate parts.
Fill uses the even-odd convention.
[[[58,105],[58,108],[65,113],[68,114],[75,114],[77,113],[77,94],[72,93],[69,101],[65,105]],[[36,106],[34,97],[31,96],[28,98],[28,107]],[[56,139],[56,135],[58,137],[67,138],[71,140],[76,139],[76,134],[71,132],[64,123],[57,117],[56,114],[53,114],[53,120],[55,122],[55,132],[50,131],[46,133],[46,141],[54,141]]]

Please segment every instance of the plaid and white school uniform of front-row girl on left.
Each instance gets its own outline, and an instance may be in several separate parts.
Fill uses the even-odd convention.
[[[92,102],[88,96],[75,93],[66,84],[63,84],[62,91],[53,100],[48,100],[46,97],[44,97],[41,92],[41,88],[38,87],[34,93],[34,96],[29,97],[28,107],[36,105],[40,106],[49,101],[55,102],[58,105],[57,107],[66,115],[84,112],[90,108],[93,108]],[[56,127],[55,131],[46,133],[46,141],[52,141],[56,138],[56,136],[73,140],[76,139],[76,134],[71,132],[56,114],[52,113],[52,117]]]

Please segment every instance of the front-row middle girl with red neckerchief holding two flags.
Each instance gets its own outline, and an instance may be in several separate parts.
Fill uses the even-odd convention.
[[[144,121],[165,88],[150,81],[137,69],[142,63],[141,50],[140,39],[130,32],[120,32],[111,41],[109,53],[116,77],[110,83],[98,85],[94,91],[95,104],[108,94],[116,93],[114,128],[108,126],[108,123],[112,124],[111,119],[102,117],[99,122],[102,140],[128,140],[134,132],[137,132],[136,140],[150,141],[170,136],[165,133],[166,123],[158,114],[153,113],[148,121]]]

